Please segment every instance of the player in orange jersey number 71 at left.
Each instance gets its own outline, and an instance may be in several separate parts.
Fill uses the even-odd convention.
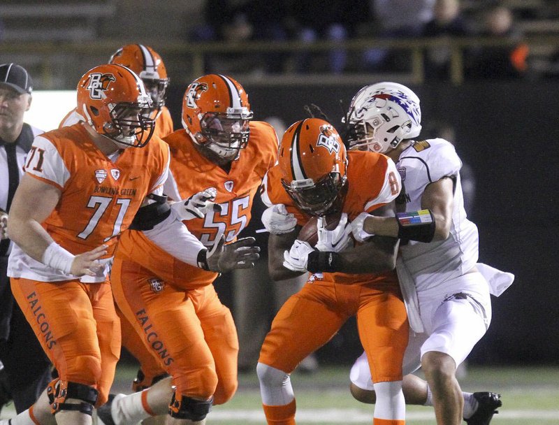
[[[209,253],[182,224],[203,216],[211,193],[173,207],[164,202],[169,147],[152,136],[151,106],[136,73],[96,66],[78,83],[85,122],[34,140],[10,210],[16,245],[8,275],[59,377],[10,424],[89,425],[94,405],[107,401],[120,350],[107,273],[117,238],[135,216],[154,240],[173,233],[189,264],[221,271],[247,262],[245,251]]]

